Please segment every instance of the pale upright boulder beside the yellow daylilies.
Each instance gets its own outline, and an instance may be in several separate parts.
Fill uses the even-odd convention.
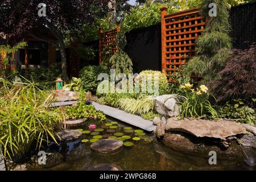
[[[165,117],[176,117],[180,114],[175,94],[158,96],[155,98],[155,109]]]

